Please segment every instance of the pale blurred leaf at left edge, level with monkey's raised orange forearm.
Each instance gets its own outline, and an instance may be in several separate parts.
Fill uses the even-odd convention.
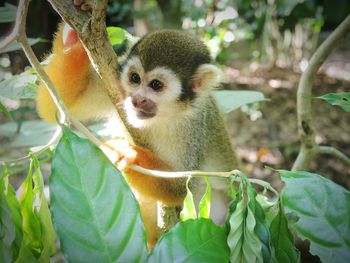
[[[23,72],[0,82],[0,98],[12,100],[35,99],[37,95],[37,76]]]

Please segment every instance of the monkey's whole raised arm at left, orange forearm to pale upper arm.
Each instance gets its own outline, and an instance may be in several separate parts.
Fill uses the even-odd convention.
[[[102,81],[91,66],[77,33],[62,23],[53,41],[53,52],[45,71],[70,113],[80,120],[113,111]],[[37,109],[41,118],[56,121],[56,106],[44,83],[39,85]]]

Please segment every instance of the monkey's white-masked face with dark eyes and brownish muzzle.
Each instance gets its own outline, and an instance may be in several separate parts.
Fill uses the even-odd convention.
[[[167,67],[155,67],[147,72],[140,59],[134,56],[123,66],[121,83],[126,91],[126,115],[134,127],[170,120],[183,111],[178,102],[181,81]]]

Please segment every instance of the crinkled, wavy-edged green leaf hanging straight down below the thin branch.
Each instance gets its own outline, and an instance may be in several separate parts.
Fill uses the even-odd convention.
[[[264,262],[263,243],[255,232],[254,189],[245,176],[241,176],[242,183],[236,200],[230,207],[228,219],[230,232],[227,243],[231,249],[231,262]]]

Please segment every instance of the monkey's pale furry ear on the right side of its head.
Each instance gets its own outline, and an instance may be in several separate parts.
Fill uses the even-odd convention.
[[[212,64],[199,66],[193,78],[193,91],[201,92],[219,86],[222,80],[222,71]]]

